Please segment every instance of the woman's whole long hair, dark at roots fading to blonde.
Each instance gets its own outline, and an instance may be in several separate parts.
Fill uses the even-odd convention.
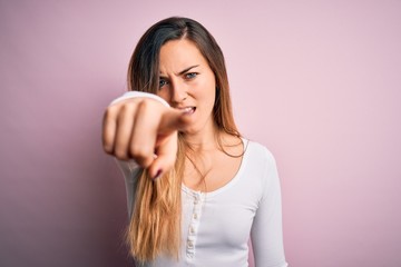
[[[216,99],[213,116],[219,132],[239,138],[232,112],[223,52],[213,36],[195,20],[172,17],[157,22],[144,33],[129,61],[128,89],[157,93],[160,48],[167,41],[184,38],[197,46],[215,75]],[[219,135],[217,142],[224,150]],[[139,263],[151,261],[158,255],[178,258],[182,178],[187,149],[188,145],[179,134],[175,168],[156,182],[143,170],[134,188],[136,197],[126,240],[130,254]]]

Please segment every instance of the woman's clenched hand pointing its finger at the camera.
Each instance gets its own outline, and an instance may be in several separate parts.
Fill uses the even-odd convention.
[[[185,110],[149,98],[130,98],[107,108],[104,149],[118,159],[134,159],[150,177],[157,177],[174,167],[177,132],[185,122]]]

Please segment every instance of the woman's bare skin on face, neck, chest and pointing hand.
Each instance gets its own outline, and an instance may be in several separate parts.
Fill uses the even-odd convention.
[[[160,49],[158,96],[170,108],[148,98],[134,98],[107,108],[102,139],[105,151],[148,168],[151,177],[173,168],[180,131],[194,151],[185,162],[184,184],[193,189],[215,190],[228,182],[241,165],[221,151],[221,134],[226,151],[242,152],[238,140],[219,132],[213,119],[215,76],[197,47],[186,39],[173,40]],[[155,157],[154,155],[157,155]]]

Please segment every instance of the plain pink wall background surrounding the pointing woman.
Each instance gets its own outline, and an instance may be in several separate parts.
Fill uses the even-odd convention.
[[[140,34],[174,14],[219,41],[239,129],[276,157],[290,265],[401,266],[390,0],[0,0],[0,266],[129,265],[101,116]]]

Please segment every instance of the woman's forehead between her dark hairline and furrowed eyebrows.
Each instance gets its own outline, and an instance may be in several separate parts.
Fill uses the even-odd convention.
[[[160,71],[180,71],[188,66],[207,65],[207,61],[194,42],[182,39],[163,44],[159,65]]]

